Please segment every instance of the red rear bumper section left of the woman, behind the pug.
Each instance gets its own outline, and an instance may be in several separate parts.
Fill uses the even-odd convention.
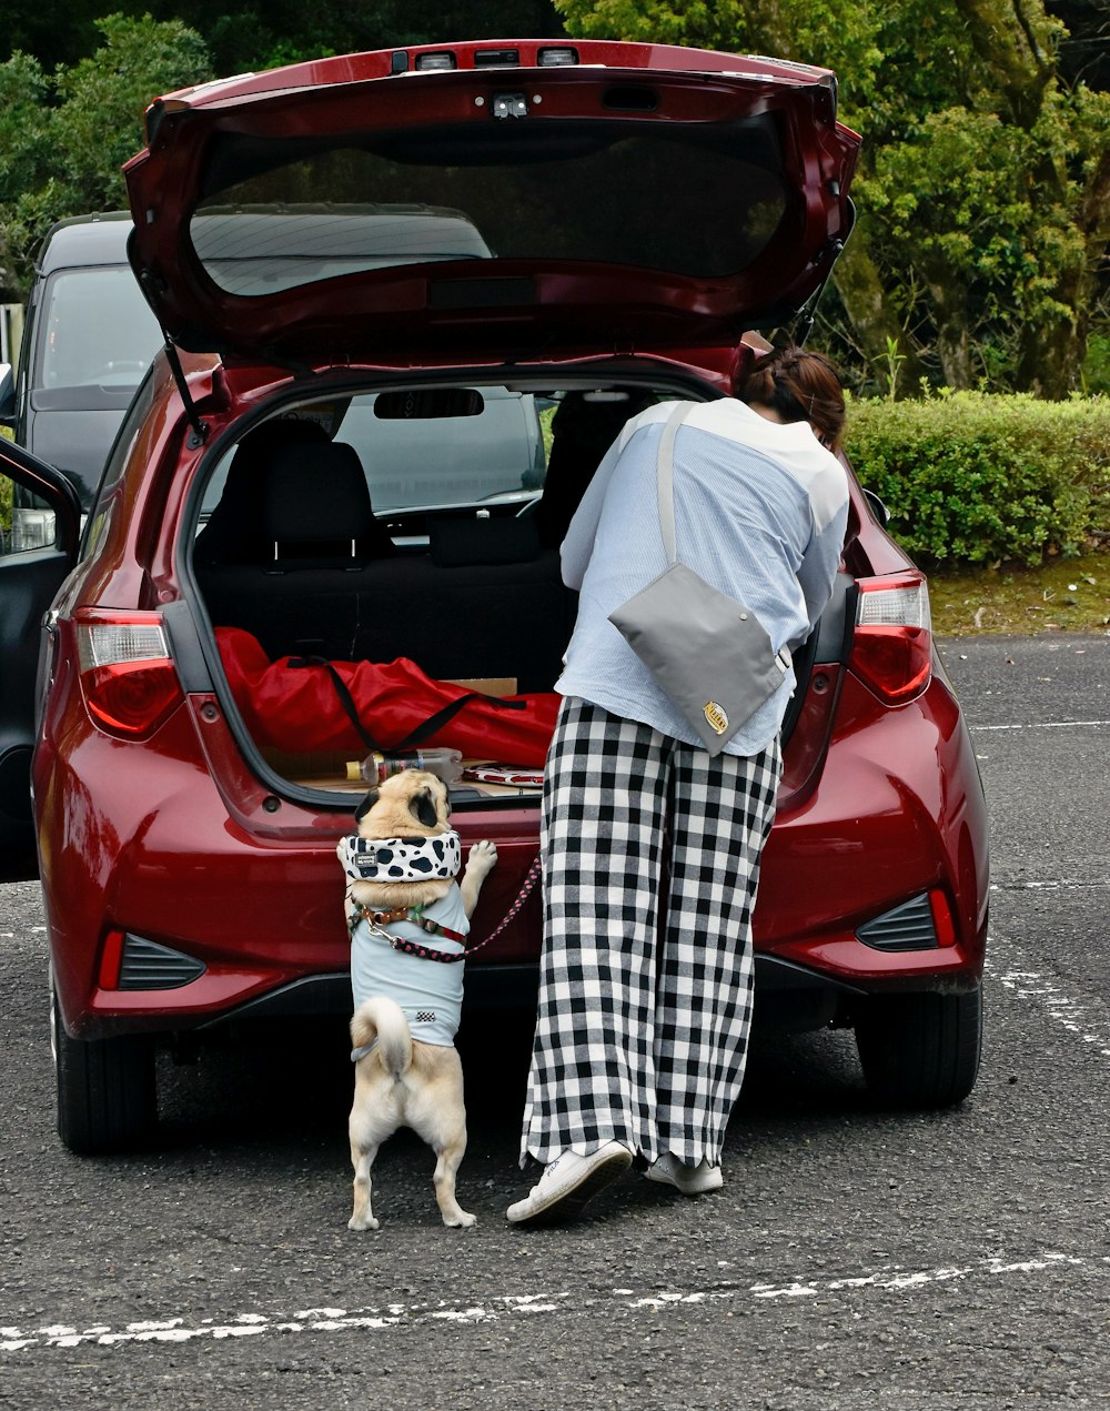
[[[75,1036],[188,1029],[310,976],[344,976],[350,945],[336,842],[351,813],[278,800],[245,768],[213,696],[190,696],[150,742],[89,720],[61,626],[55,704],[35,758],[39,854],[55,983]],[[49,741],[65,739],[65,751]],[[219,785],[217,785],[219,780]],[[65,799],[51,809],[51,799]],[[504,919],[536,856],[535,811],[460,823],[492,838],[499,866],[474,935]],[[537,897],[536,897],[537,900]],[[535,958],[536,900],[482,959]],[[172,989],[104,988],[113,931],[202,961]],[[324,988],[327,1006],[333,992]],[[348,1007],[343,992],[340,1009]],[[310,1007],[310,1006],[309,1006]]]

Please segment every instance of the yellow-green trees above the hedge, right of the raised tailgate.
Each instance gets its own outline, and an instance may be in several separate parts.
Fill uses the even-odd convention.
[[[567,30],[832,68],[865,135],[825,339],[903,385],[1079,385],[1110,240],[1110,95],[1042,0],[557,0]],[[1104,285],[1104,278],[1103,278]]]

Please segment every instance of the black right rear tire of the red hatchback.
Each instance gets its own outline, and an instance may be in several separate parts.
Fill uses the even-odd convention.
[[[898,1108],[951,1108],[979,1077],[983,991],[883,995],[856,1015],[856,1048],[867,1088]]]

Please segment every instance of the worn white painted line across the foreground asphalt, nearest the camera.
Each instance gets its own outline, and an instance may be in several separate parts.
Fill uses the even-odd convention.
[[[814,1298],[827,1302],[831,1297],[850,1297],[872,1290],[911,1294],[932,1284],[1031,1278],[1045,1271],[1096,1270],[1104,1264],[1110,1264],[1110,1256],[1079,1259],[1072,1254],[1039,1253],[1014,1260],[977,1259],[966,1264],[951,1264],[941,1268],[907,1270],[900,1264],[891,1264],[870,1274],[849,1274],[839,1278],[790,1278],[777,1284],[748,1284],[736,1288],[687,1292],[636,1294],[632,1288],[614,1288],[608,1300],[612,1311],[618,1312],[636,1312],[645,1308],[664,1312],[670,1308],[688,1308],[695,1304],[739,1307],[746,1302],[774,1300]],[[728,1264],[724,1263],[722,1267],[726,1268]],[[604,1294],[597,1295],[597,1302],[605,1297]],[[271,1316],[238,1314],[223,1322],[205,1318],[193,1325],[189,1325],[185,1318],[159,1318],[150,1322],[126,1324],[118,1329],[106,1325],[80,1328],[68,1324],[48,1324],[28,1331],[0,1326],[0,1352],[65,1352],[89,1345],[117,1348],[128,1343],[183,1343],[196,1339],[223,1342],[234,1338],[265,1338],[278,1333],[291,1336],[320,1332],[384,1332],[389,1328],[415,1328],[425,1324],[472,1325],[499,1322],[505,1318],[543,1318],[574,1312],[578,1307],[581,1307],[581,1297],[568,1292],[509,1294],[480,1304],[456,1301],[434,1305],[388,1304],[385,1308],[305,1308],[299,1312]]]

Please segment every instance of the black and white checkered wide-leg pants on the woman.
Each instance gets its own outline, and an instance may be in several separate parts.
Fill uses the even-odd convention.
[[[714,759],[563,701],[543,799],[522,1165],[608,1140],[649,1161],[721,1160],[743,1081],[752,909],[780,773],[777,738],[750,759]]]

